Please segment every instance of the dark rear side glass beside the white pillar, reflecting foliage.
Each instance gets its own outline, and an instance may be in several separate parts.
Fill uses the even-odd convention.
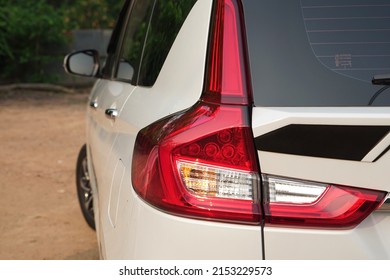
[[[116,78],[153,86],[196,0],[133,0]]]

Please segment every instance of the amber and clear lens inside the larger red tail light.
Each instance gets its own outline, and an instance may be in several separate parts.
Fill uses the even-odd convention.
[[[177,161],[185,187],[196,195],[253,200],[257,175],[234,169]]]

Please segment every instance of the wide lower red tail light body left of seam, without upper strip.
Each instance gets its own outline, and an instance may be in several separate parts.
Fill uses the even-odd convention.
[[[259,173],[247,109],[198,103],[140,131],[137,193],[169,213],[260,223]]]

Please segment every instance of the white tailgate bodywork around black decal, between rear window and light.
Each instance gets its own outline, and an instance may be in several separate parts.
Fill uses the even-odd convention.
[[[258,137],[290,124],[387,127],[390,125],[390,120],[388,109],[385,107],[254,108],[252,123],[254,135]],[[311,137],[310,135],[305,136]],[[379,151],[375,153],[374,159],[388,147],[388,138],[384,139],[384,142],[378,142]],[[354,142],[350,143],[350,145],[354,144]],[[372,149],[376,146],[374,145]],[[326,148],[324,147],[324,149]],[[352,161],[260,150],[259,159],[264,173],[390,191],[386,172],[390,163],[390,154],[388,153],[376,161],[373,161],[372,158]]]

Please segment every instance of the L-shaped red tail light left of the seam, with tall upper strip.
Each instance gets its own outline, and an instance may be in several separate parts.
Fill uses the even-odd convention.
[[[146,202],[171,214],[261,222],[240,11],[233,0],[215,3],[200,101],[137,136],[134,189]]]

